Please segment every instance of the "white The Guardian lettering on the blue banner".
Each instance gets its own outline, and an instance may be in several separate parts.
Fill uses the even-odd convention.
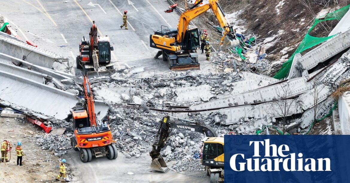
[[[332,171],[329,158],[303,157],[303,153],[289,153],[289,146],[264,141],[249,141],[254,147],[253,158],[237,153],[230,157],[233,171]],[[260,149],[262,148],[262,149]],[[265,153],[260,154],[260,150]]]

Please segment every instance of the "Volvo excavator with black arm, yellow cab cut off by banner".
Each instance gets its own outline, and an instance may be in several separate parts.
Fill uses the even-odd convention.
[[[170,122],[170,118],[181,122]],[[207,175],[210,175],[211,183],[223,182],[224,138],[217,137],[215,130],[203,122],[194,122],[173,116],[165,116],[160,122],[158,133],[152,145],[152,151],[149,153],[152,157],[151,168],[161,172],[169,170],[160,152],[166,146],[168,139],[173,135],[173,128],[194,131],[205,135],[201,152],[202,165],[205,166]]]

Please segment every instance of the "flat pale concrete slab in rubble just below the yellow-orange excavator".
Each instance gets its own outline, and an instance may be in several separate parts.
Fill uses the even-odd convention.
[[[182,87],[175,90],[177,101],[208,101],[210,98],[214,97],[214,95],[210,93],[211,86],[209,85]]]

